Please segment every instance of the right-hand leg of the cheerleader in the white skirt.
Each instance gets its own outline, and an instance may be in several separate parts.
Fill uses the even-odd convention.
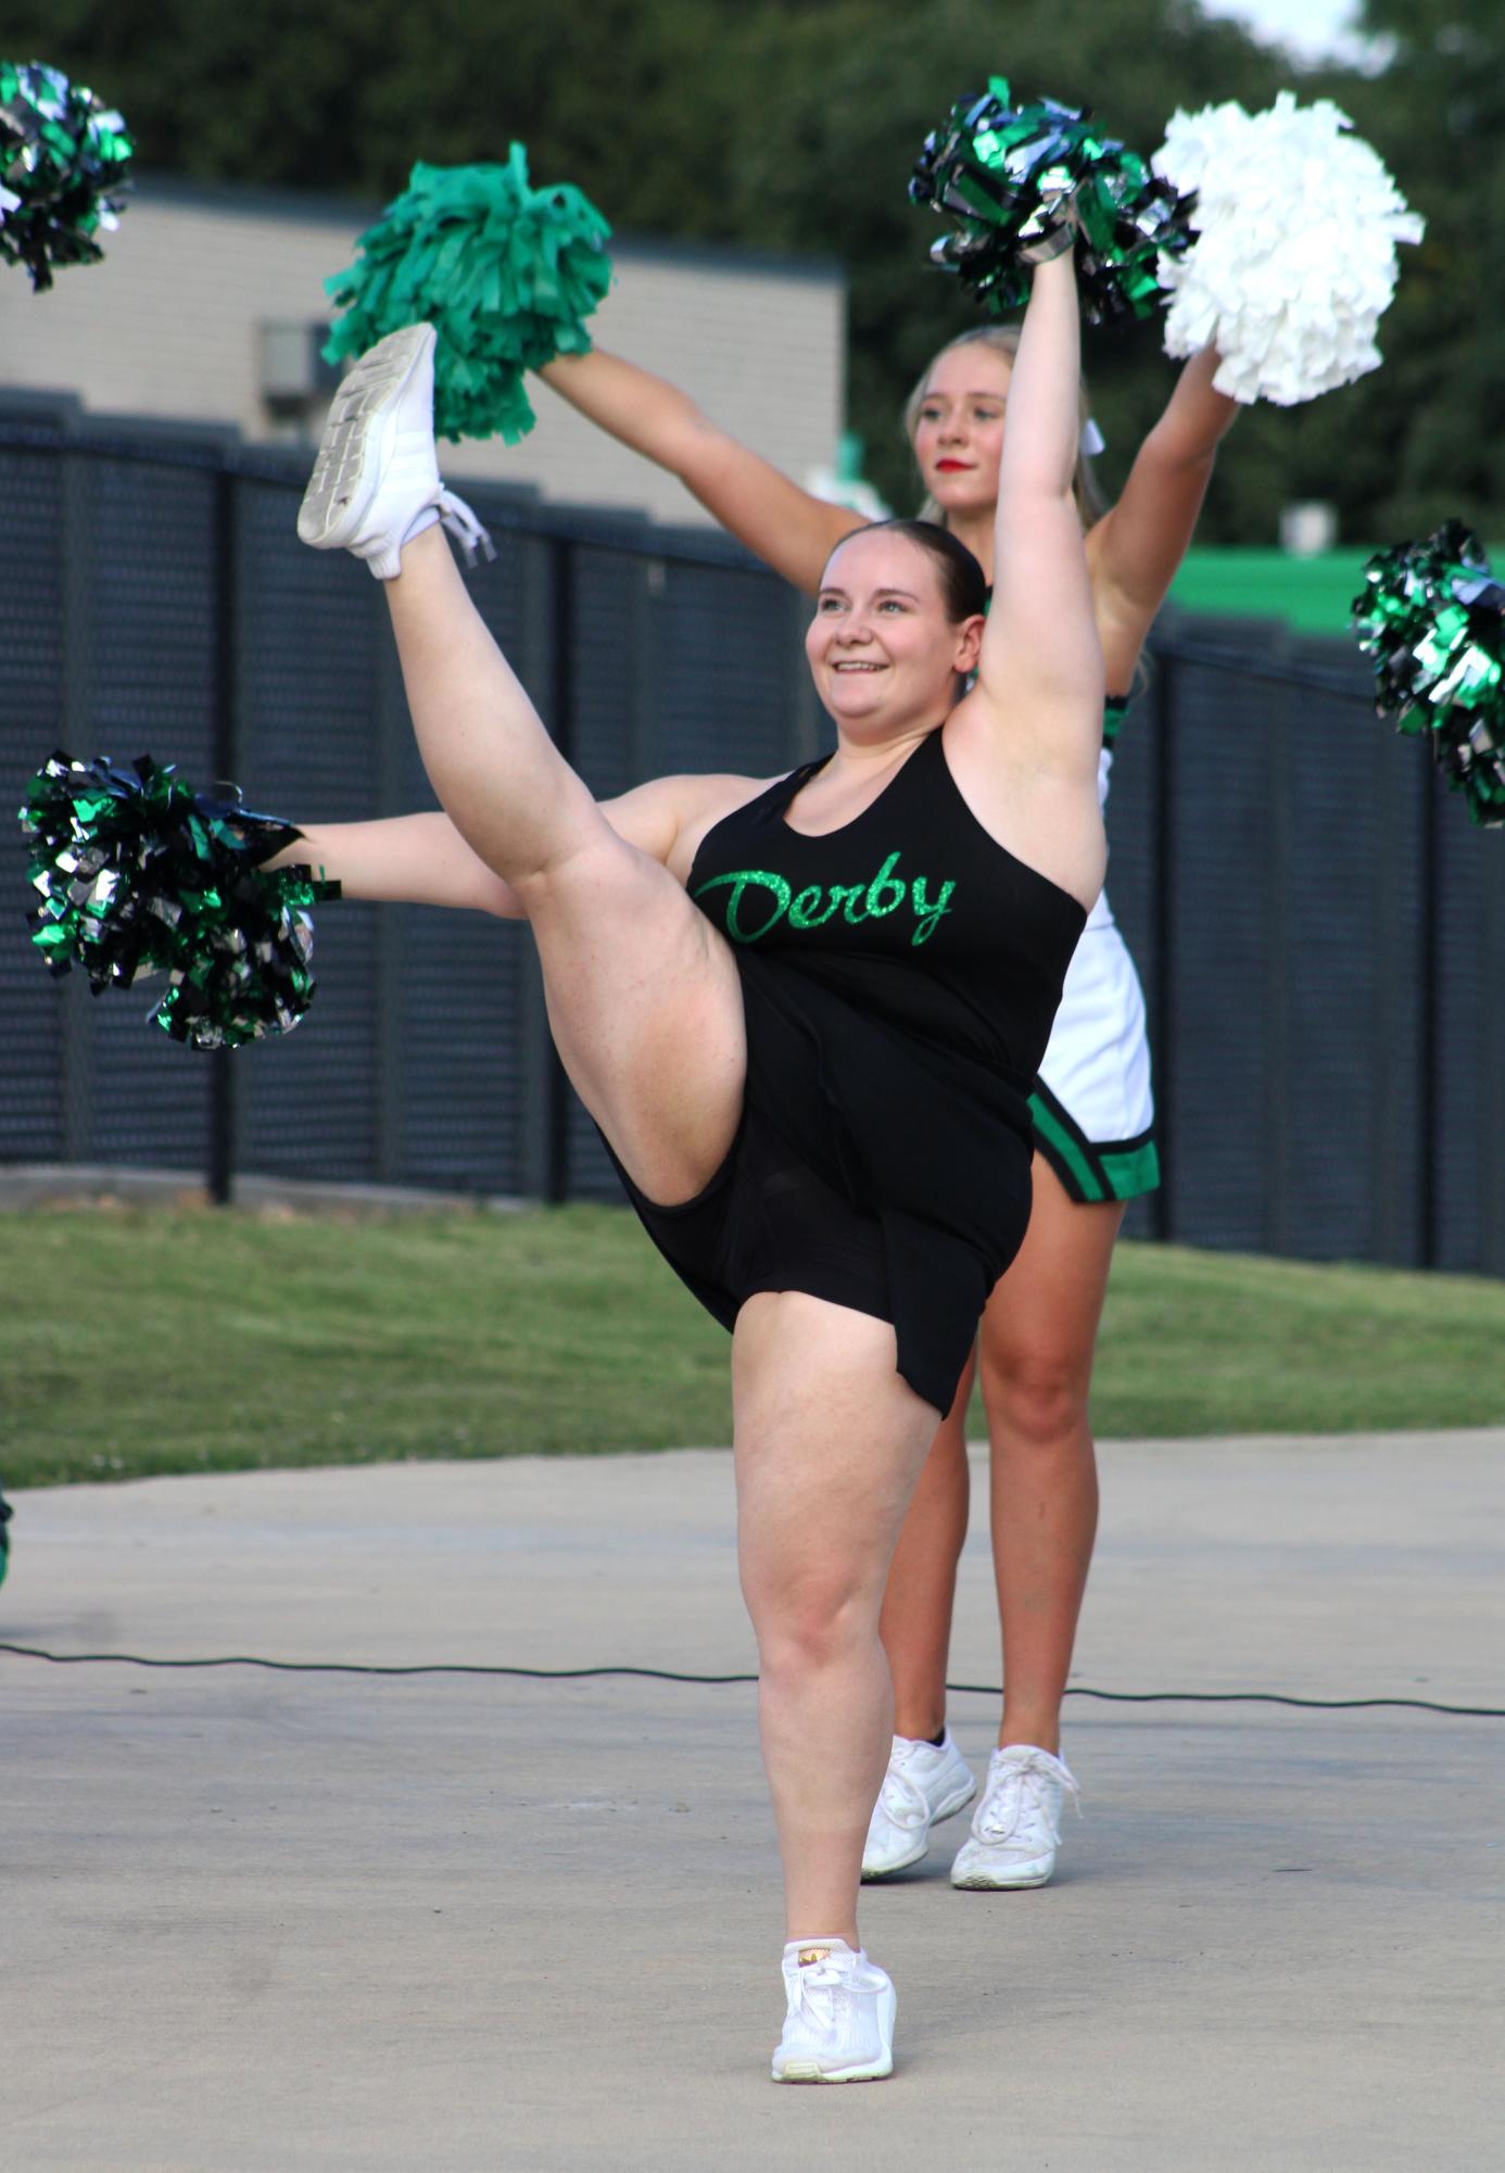
[[[1029,1232],[982,1321],[1003,1621],[999,1747],[1060,1754],[1060,1701],[1097,1536],[1092,1352],[1123,1213],[1121,1202],[1073,1202],[1036,1156]]]

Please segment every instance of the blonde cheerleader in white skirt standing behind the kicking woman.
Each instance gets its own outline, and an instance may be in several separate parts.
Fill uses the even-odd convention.
[[[925,487],[921,517],[945,526],[984,571],[995,565],[1016,343],[1019,328],[1003,324],[953,339],[929,361],[903,413]],[[1238,413],[1214,387],[1218,363],[1214,348],[1186,363],[1112,508],[1092,474],[1090,454],[1101,441],[1082,387],[1075,495],[1110,691],[1099,756],[1103,802],[1140,650],[1192,539],[1216,445]],[[619,354],[599,346],[560,354],[541,376],[589,422],[678,476],[797,589],[814,593],[830,552],[862,526],[860,513],[812,498],[678,387]],[[1160,1182],[1144,997],[1108,893],[1099,893],[1073,954],[1029,1106],[1029,1232],[995,1284],[977,1339],[1006,1695],[973,1832],[951,1867],[956,1886],[1045,1884],[1055,1869],[1064,1799],[1077,1786],[1060,1756],[1060,1708],[1097,1534],[1092,1358],[1127,1202]],[[895,1736],[864,1877],[919,1862],[932,1827],[977,1795],[947,1730],[945,1691],[969,1521],[969,1393],[971,1369],[936,1430],[888,1575],[884,1647],[895,1678]]]

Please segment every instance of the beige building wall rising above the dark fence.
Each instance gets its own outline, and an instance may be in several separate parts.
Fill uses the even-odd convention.
[[[287,439],[261,393],[261,324],[321,322],[324,278],[369,224],[361,206],[230,187],[141,180],[104,263],[35,296],[0,278],[0,395],[74,393],[85,409],[235,424]],[[736,250],[617,243],[593,337],[688,391],[708,415],[797,480],[830,467],[845,417],[845,280]],[[704,522],[656,467],[584,424],[536,378],[539,426],[519,445],[443,450],[445,474],[534,485],[573,504]]]

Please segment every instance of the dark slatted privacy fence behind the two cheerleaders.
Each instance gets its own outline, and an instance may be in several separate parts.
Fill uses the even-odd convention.
[[[380,585],[293,535],[308,456],[0,406],[0,789],[54,750],[150,752],[293,821],[432,806]],[[465,485],[471,593],[597,793],[769,776],[827,743],[804,606],[706,530]],[[1166,619],[1118,741],[1114,913],[1144,980],[1166,1182],[1129,1230],[1505,1273],[1505,834],[1379,726],[1344,641]],[[526,930],[317,913],[282,1041],[200,1056],[26,941],[0,824],[0,1163],[612,1199]],[[0,928],[4,924],[0,921]]]

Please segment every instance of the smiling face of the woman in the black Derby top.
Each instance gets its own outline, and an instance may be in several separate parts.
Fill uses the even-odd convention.
[[[871,739],[938,724],[979,643],[982,617],[947,617],[940,567],[923,543],[858,528],[825,565],[806,656],[838,728]]]

